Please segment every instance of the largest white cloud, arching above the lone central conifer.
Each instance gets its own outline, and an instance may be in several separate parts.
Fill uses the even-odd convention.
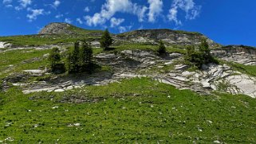
[[[117,12],[136,14],[139,20],[143,21],[145,11],[146,8],[144,6],[138,6],[136,3],[132,3],[130,0],[107,0],[101,7],[99,13],[96,13],[93,16],[85,16],[85,21],[86,24],[90,26],[103,25]]]

